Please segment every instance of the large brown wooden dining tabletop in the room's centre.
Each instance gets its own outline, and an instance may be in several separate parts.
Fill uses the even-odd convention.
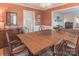
[[[17,35],[29,51],[36,55],[43,49],[55,45],[61,39],[65,39],[63,31],[42,30]]]

